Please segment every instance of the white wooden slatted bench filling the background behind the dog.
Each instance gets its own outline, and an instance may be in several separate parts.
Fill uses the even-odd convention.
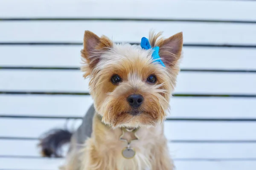
[[[0,170],[63,161],[42,158],[38,137],[77,127],[92,103],[84,30],[139,43],[151,28],[184,36],[165,122],[177,170],[255,170],[256,2],[245,0],[1,0]]]

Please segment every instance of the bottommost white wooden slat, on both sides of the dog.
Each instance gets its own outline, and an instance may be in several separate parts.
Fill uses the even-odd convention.
[[[58,170],[63,159],[0,158],[4,170]],[[181,161],[174,162],[177,170],[255,170],[255,161]]]

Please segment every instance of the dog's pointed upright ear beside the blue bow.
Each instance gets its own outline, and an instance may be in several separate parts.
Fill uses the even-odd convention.
[[[160,41],[158,46],[160,47],[159,56],[163,63],[169,67],[175,66],[181,57],[183,46],[182,32]]]

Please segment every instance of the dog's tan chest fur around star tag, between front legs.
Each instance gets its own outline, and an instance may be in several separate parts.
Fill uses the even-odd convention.
[[[96,117],[96,116],[95,116]],[[121,128],[112,129],[95,118],[93,123],[92,138],[97,154],[102,158],[108,158],[104,164],[113,170],[148,170],[151,169],[151,151],[157,144],[156,141],[162,135],[163,126],[141,127],[137,132],[138,140],[133,140],[131,148],[136,151],[133,159],[122,156],[122,150],[127,147],[127,142],[120,140]],[[125,132],[123,138],[128,141],[134,139],[134,133]]]

